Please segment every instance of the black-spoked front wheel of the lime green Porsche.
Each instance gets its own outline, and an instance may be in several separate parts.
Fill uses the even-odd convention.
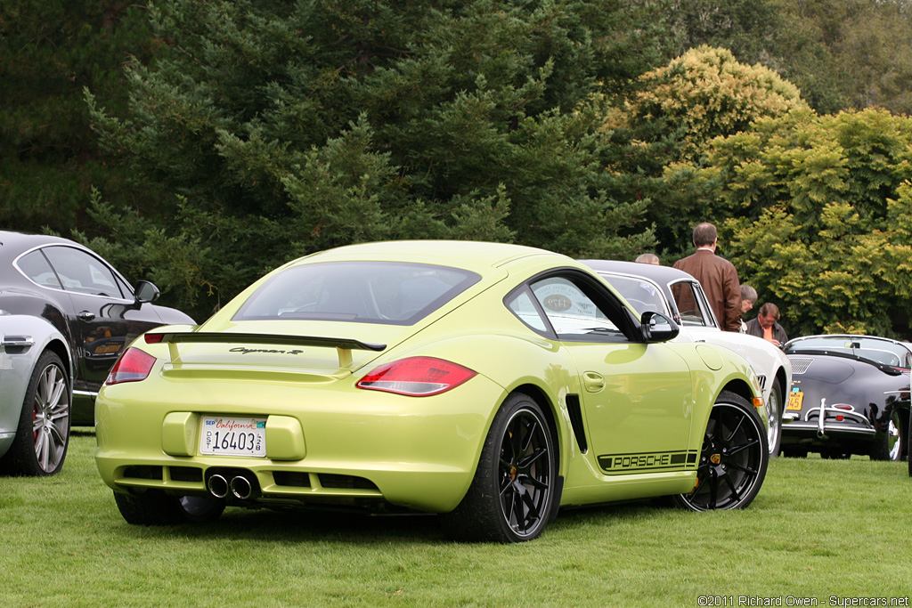
[[[697,483],[675,502],[689,510],[743,509],[757,496],[770,452],[761,417],[748,402],[722,391],[703,436]]]

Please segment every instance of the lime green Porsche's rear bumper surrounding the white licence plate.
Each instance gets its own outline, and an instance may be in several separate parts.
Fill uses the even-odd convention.
[[[162,388],[160,391],[159,388]],[[483,376],[433,397],[339,386],[177,382],[106,387],[96,463],[119,491],[207,492],[212,472],[255,479],[260,505],[389,503],[446,512],[464,496],[503,389]],[[265,417],[266,457],[199,451],[203,415]]]

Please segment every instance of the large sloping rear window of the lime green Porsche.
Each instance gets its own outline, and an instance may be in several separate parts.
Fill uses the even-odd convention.
[[[480,279],[459,268],[420,263],[305,264],[264,283],[234,320],[412,325]]]

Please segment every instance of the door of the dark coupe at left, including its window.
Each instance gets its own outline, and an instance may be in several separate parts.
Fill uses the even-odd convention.
[[[130,286],[100,258],[65,245],[41,251],[71,303],[67,316],[78,359],[76,387],[96,393],[126,346],[161,320],[151,306],[135,307]]]

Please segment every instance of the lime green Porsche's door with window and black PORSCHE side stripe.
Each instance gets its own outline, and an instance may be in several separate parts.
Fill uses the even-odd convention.
[[[693,388],[674,345],[631,340],[614,294],[567,273],[530,283],[575,361],[586,436],[608,475],[692,469]],[[629,331],[627,332],[629,333]]]

